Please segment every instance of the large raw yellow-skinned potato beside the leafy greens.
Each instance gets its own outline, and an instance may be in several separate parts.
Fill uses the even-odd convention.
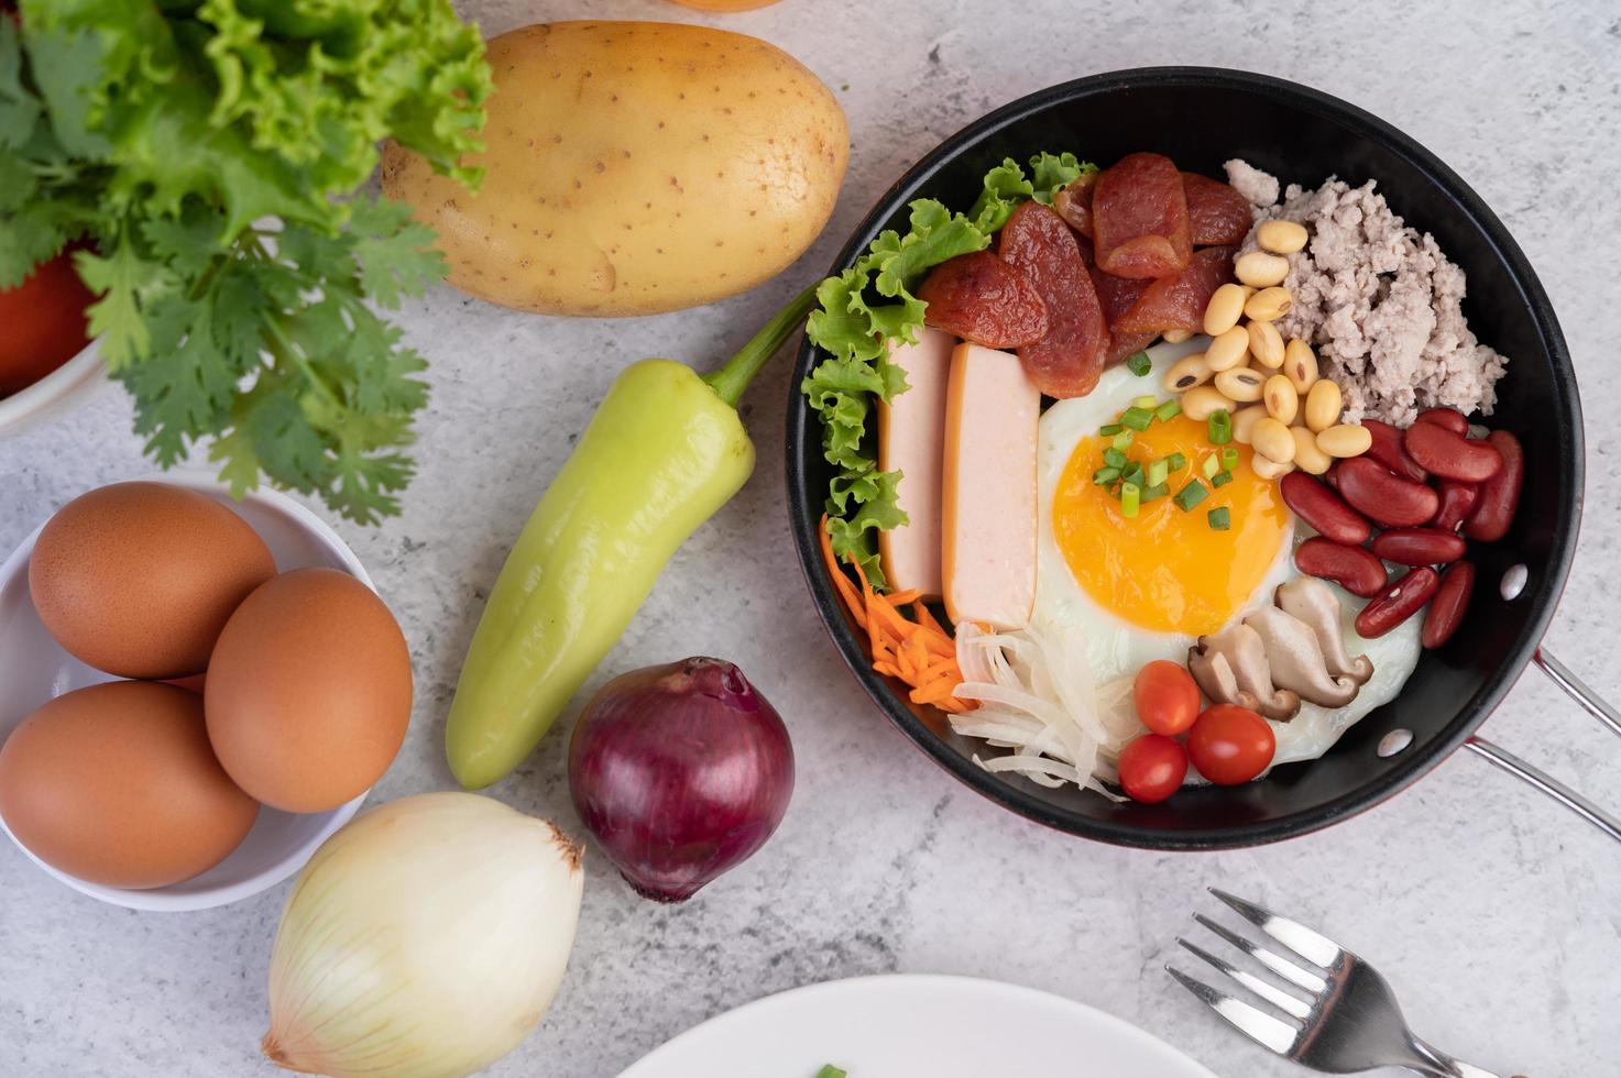
[[[822,232],[849,156],[833,94],[763,41],[551,23],[490,41],[477,196],[394,146],[383,190],[447,280],[541,314],[652,314],[751,289]]]

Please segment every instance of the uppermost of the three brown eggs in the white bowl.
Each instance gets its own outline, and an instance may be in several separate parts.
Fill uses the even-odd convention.
[[[276,575],[248,522],[169,483],[79,494],[39,533],[28,590],[75,658],[120,678],[201,673],[225,619]]]

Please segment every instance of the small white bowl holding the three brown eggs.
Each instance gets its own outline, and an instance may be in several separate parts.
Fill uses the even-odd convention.
[[[282,572],[324,566],[373,587],[371,577],[344,540],[285,494],[259,490],[235,503],[225,488],[207,475],[169,472],[149,478],[201,491],[235,512],[259,533]],[[34,611],[34,601],[28,593],[28,559],[44,527],[41,524],[34,528],[5,564],[0,564],[0,686],[5,686],[5,692],[0,692],[0,742],[47,700],[84,686],[117,681],[112,674],[86,666],[62,650]],[[297,814],[261,807],[253,830],[229,858],[190,880],[149,890],[105,887],[68,875],[29,853],[5,827],[5,820],[0,820],[0,830],[5,830],[34,864],[91,898],[130,909],[209,909],[258,895],[302,869],[316,848],[355,815],[365,799],[363,793],[331,812]]]

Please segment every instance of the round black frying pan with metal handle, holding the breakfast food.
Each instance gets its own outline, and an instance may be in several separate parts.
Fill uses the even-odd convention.
[[[1307,186],[1329,175],[1352,183],[1376,178],[1391,207],[1433,232],[1464,267],[1470,326],[1511,357],[1491,425],[1514,431],[1525,446],[1519,515],[1501,543],[1472,548],[1480,575],[1452,640],[1426,652],[1401,697],[1357,723],[1321,760],[1282,765],[1247,786],[1183,789],[1157,806],[1114,804],[1094,793],[1049,791],[984,772],[969,759],[974,751],[986,752],[982,742],[958,738],[932,708],[913,705],[872,671],[822,564],[815,528],[830,468],[820,426],[794,391],[786,444],[799,561],[822,621],[879,707],[937,764],[1020,815],[1073,835],[1153,849],[1253,846],[1328,827],[1389,798],[1465,742],[1499,767],[1551,783],[1472,738],[1525,665],[1543,660],[1538,640],[1564,587],[1582,507],[1582,417],[1571,357],[1537,274],[1496,216],[1418,143],[1336,97],[1240,71],[1141,68],[1054,86],[971,123],[879,199],[835,271],[866,251],[882,229],[905,232],[911,199],[939,198],[966,209],[987,169],[1002,157],[1024,160],[1042,149],[1073,151],[1101,164],[1131,151],[1157,151],[1214,177],[1222,175],[1224,160],[1243,157],[1285,183]],[[819,358],[809,344],[801,347],[794,387]],[[1499,580],[1512,566],[1525,566],[1529,577],[1508,600],[1499,595]],[[1556,679],[1558,671],[1551,671]],[[1579,682],[1561,684],[1580,699]],[[1584,704],[1600,717],[1606,710],[1597,700]],[[1608,715],[1621,733],[1621,720]],[[1399,731],[1410,731],[1410,742],[1391,754],[1391,744],[1404,738]],[[1568,794],[1558,785],[1543,789]],[[1621,838],[1613,819],[1590,806],[1579,811]]]

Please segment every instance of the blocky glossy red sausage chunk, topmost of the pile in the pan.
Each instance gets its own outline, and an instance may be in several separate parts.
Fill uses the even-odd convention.
[[[1097,266],[1115,277],[1165,277],[1188,264],[1193,240],[1182,173],[1161,154],[1127,154],[1093,188]]]

